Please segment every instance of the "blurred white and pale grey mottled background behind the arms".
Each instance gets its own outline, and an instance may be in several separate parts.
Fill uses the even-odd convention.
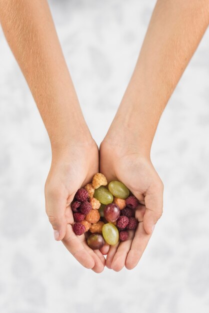
[[[154,4],[49,1],[98,144],[128,83]],[[0,29],[0,312],[208,312],[208,42],[207,31],[154,138],[152,162],[165,186],[164,213],[149,245],[133,270],[95,274],[53,239],[43,194],[49,139]]]

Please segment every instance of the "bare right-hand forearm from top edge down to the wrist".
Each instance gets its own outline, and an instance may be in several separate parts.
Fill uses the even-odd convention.
[[[133,75],[107,137],[120,125],[124,128],[120,134],[128,140],[131,136],[135,149],[140,147],[149,154],[160,115],[208,20],[208,0],[157,1]]]

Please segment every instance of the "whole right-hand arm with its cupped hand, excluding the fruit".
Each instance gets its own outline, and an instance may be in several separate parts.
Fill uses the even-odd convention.
[[[111,246],[106,266],[132,269],[162,214],[163,184],[150,149],[160,115],[209,22],[209,1],[158,0],[132,77],[100,145],[100,171],[138,198],[135,235]]]

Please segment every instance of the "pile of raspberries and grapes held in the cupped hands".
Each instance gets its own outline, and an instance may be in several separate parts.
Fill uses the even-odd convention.
[[[118,240],[124,241],[128,239],[128,230],[137,226],[137,205],[138,200],[129,195],[122,182],[112,180],[107,185],[106,177],[96,173],[91,183],[77,190],[71,203],[73,231],[76,235],[91,233],[87,244],[92,249],[101,248],[105,242],[114,245]]]

